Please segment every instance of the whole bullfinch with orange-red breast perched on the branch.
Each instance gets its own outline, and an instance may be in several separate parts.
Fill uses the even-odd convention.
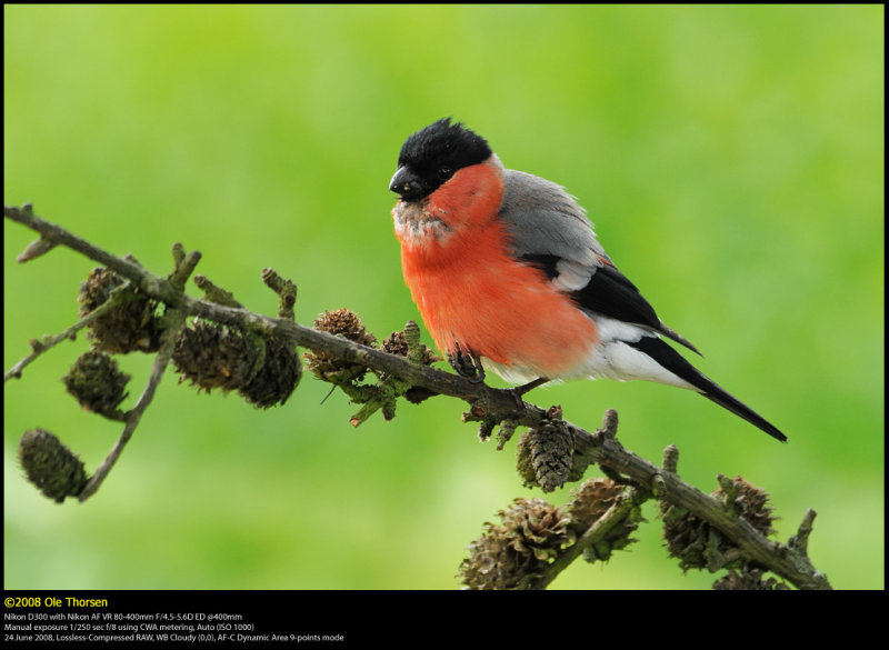
[[[460,374],[493,370],[523,391],[549,380],[643,379],[693,390],[787,437],[663,339],[583,208],[548,180],[505,169],[485,138],[443,118],[408,137],[389,189],[401,264],[429,333]]]

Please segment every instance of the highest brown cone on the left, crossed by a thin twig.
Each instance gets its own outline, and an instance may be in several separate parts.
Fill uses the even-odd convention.
[[[78,302],[83,318],[123,284],[123,279],[104,267],[96,268],[80,284]],[[128,352],[157,352],[160,348],[161,327],[154,314],[158,303],[139,292],[136,287],[123,290],[121,302],[89,323],[88,338],[98,350],[111,354]]]

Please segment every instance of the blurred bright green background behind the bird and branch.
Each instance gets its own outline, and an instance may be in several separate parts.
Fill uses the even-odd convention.
[[[767,488],[782,540],[813,508],[812,561],[847,589],[883,587],[883,108],[881,6],[4,7],[6,203],[156,273],[181,241],[254,310],[274,312],[271,266],[302,323],[348,307],[381,339],[419,319],[387,187],[442,116],[565,184],[701,370],[790,443],[656,384],[531,400],[588,428],[616,408],[628,448],[677,444],[705,491],[717,472]],[[4,368],[76,320],[94,266],[17,266],[32,239],[6,223]],[[453,589],[482,523],[540,496],[457,401],[353,430],[310,378],[262,412],[170,372],[100,493],[57,506],[17,443],[39,426],[104,458],[119,427],[58,381],[86,348],[4,387],[8,589]],[[151,358],[120,361],[131,406]],[[708,588],[645,513],[628,552],[553,588]]]

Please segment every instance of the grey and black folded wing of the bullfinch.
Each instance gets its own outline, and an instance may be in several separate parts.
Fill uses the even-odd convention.
[[[698,352],[663,324],[639,289],[615,268],[583,209],[562,187],[515,170],[506,170],[503,180],[499,218],[516,259],[541,269],[581,308],[641,326]]]

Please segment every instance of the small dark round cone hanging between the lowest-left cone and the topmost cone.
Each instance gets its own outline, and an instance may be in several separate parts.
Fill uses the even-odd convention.
[[[118,406],[127,397],[130,376],[118,370],[118,362],[103,352],[84,352],[71,366],[62,382],[80,406],[101,416],[119,419]]]

